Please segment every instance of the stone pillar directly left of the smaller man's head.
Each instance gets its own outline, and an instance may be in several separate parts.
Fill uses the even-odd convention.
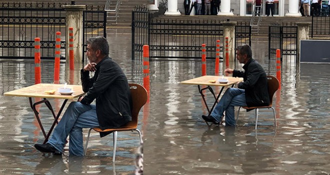
[[[222,1],[221,1],[222,2]],[[228,37],[228,44],[229,44],[229,66],[232,67],[234,60],[235,60],[235,25],[237,25],[236,21],[223,21],[221,22],[223,25],[223,38],[222,38],[222,45],[223,45],[223,65],[226,65],[225,62],[225,37]],[[224,70],[226,67],[222,66]]]

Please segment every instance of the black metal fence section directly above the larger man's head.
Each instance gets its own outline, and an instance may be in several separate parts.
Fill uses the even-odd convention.
[[[87,57],[85,57],[85,52],[87,44],[85,44],[85,41],[93,36],[106,37],[106,11],[104,11],[104,5],[86,5],[86,9],[83,11],[82,21],[82,60],[86,63]]]

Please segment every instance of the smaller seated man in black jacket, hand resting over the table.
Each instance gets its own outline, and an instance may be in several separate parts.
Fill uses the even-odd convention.
[[[238,88],[227,88],[220,101],[210,115],[202,115],[207,122],[218,124],[225,111],[225,125],[235,125],[234,106],[263,106],[269,105],[268,84],[266,72],[261,65],[252,58],[249,45],[240,45],[236,48],[236,58],[243,63],[244,71],[227,68],[225,73],[243,77]]]

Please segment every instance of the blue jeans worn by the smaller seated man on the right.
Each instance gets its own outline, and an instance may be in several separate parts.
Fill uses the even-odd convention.
[[[211,116],[220,122],[225,111],[225,125],[233,126],[235,125],[234,106],[246,106],[244,89],[227,88],[211,112]]]

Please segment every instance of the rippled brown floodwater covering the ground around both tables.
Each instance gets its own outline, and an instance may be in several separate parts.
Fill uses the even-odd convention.
[[[129,30],[128,30],[129,31]],[[123,31],[120,31],[123,32]],[[140,61],[130,59],[130,34],[109,33],[110,56],[129,82],[143,82]],[[253,57],[267,74],[276,75],[267,56],[267,42],[252,42]],[[207,60],[207,74],[214,74]],[[0,60],[0,174],[134,174],[139,152],[138,135],[119,132],[116,161],[112,163],[112,136],[93,133],[84,157],[42,154],[33,148],[43,136],[25,97],[3,92],[34,83],[32,60]],[[61,63],[60,83],[80,84],[79,68]],[[222,66],[222,64],[220,64]],[[240,67],[241,65],[236,65]],[[140,111],[144,174],[329,174],[330,173],[330,64],[296,63],[284,58],[281,89],[271,110],[241,111],[236,127],[207,126],[196,85],[180,81],[201,75],[200,60],[151,60],[150,103]],[[53,61],[41,61],[41,81],[52,83]],[[221,75],[222,73],[220,73]],[[214,89],[218,91],[219,89]],[[206,93],[208,104],[212,103]],[[50,100],[57,111],[61,100]],[[52,116],[39,107],[48,128]],[[237,110],[237,109],[236,109]],[[84,130],[86,136],[87,130]]]

